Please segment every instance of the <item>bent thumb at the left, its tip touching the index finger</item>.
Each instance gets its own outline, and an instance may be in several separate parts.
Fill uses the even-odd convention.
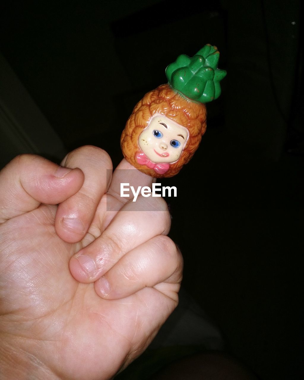
[[[40,203],[61,203],[78,192],[83,182],[78,168],[62,168],[31,154],[17,156],[0,171],[0,223]]]

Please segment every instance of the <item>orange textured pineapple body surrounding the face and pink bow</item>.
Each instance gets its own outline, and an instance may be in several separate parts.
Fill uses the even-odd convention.
[[[189,132],[180,158],[176,162],[170,163],[169,169],[164,174],[159,174],[154,169],[139,164],[136,160],[136,153],[140,151],[139,135],[148,127],[154,115],[166,116],[187,128]],[[169,84],[163,84],[146,93],[142,100],[137,103],[122,132],[120,144],[124,157],[136,169],[152,177],[172,177],[190,161],[205,131],[206,106],[180,95]]]

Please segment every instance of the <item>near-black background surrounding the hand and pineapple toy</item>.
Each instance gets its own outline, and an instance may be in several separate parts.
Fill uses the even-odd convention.
[[[2,54],[63,143],[46,150],[42,133],[41,145],[19,149],[3,134],[2,166],[24,152],[60,162],[84,144],[117,165],[125,122],[166,82],[166,66],[218,47],[228,74],[207,105],[206,135],[161,183],[178,191],[167,201],[184,287],[262,380],[303,374],[300,11],[295,0],[76,0],[11,1],[0,12]]]

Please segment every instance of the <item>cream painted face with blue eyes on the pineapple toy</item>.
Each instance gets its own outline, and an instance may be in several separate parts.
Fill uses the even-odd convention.
[[[142,152],[154,163],[176,162],[188,140],[189,132],[166,116],[154,116],[138,138]]]

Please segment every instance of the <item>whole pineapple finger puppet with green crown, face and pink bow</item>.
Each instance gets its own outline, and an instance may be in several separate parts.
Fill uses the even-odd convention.
[[[225,70],[220,53],[205,45],[194,57],[180,55],[166,68],[168,84],[140,100],[120,139],[122,152],[136,169],[152,177],[175,176],[187,164],[206,131],[206,106],[220,96]]]

